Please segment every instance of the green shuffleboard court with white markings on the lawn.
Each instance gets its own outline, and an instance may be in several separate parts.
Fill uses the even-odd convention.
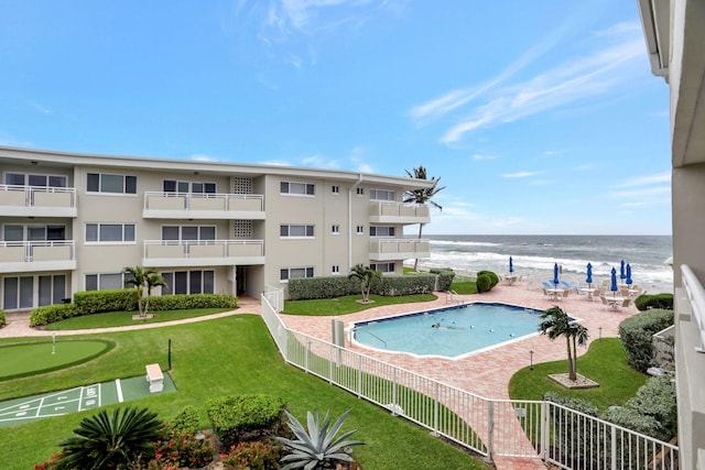
[[[175,391],[176,386],[171,375],[169,372],[164,372],[164,390],[159,393],[150,393],[149,383],[144,375],[139,375],[77,386],[61,392],[24,396],[0,402],[0,427],[14,426],[35,419],[99,408],[113,403]]]

